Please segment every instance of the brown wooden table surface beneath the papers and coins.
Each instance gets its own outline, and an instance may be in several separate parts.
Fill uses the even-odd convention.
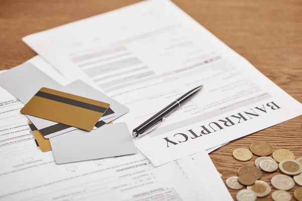
[[[23,36],[68,22],[111,11],[135,0],[0,0],[0,69],[8,69],[35,56]],[[302,102],[302,5],[300,0],[174,0],[180,8],[249,60],[287,93]],[[232,152],[249,148],[257,140],[286,148],[302,157],[302,116],[235,140],[210,154],[223,181],[236,176],[243,165]],[[264,173],[261,180],[270,184],[278,174]],[[296,185],[290,193],[298,186]],[[229,189],[235,198],[237,190]],[[272,188],[272,191],[275,189]],[[261,199],[271,199],[271,194]],[[261,200],[259,198],[259,200]]]

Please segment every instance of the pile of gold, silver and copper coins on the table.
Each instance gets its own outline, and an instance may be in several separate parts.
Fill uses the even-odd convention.
[[[233,151],[234,158],[240,161],[250,160],[253,154],[260,156],[255,160],[255,166],[244,165],[239,168],[238,176],[226,179],[226,185],[229,188],[239,190],[247,186],[247,189],[242,189],[237,193],[237,200],[253,201],[257,197],[267,196],[271,192],[271,186],[260,180],[262,171],[271,173],[278,168],[282,174],[271,178],[272,186],[277,189],[272,193],[272,199],[275,201],[291,200],[292,195],[287,190],[292,189],[295,183],[302,186],[302,157],[295,159],[294,154],[286,149],[278,149],[273,152],[273,147],[263,141],[252,143],[250,149],[238,148]],[[270,154],[272,154],[272,158],[268,157]],[[293,195],[298,201],[302,201],[302,187],[296,188]]]

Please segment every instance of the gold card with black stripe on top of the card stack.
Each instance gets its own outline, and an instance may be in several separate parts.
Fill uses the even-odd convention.
[[[109,107],[98,100],[43,87],[20,112],[90,131]]]

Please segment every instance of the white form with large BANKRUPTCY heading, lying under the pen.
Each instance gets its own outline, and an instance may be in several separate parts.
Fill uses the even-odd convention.
[[[155,166],[302,114],[294,98],[171,1],[143,1],[23,38],[69,81],[124,104],[130,131],[204,85],[153,132],[134,139]]]

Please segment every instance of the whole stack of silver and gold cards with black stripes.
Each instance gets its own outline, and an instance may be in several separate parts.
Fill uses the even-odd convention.
[[[0,85],[25,104],[21,113],[29,119],[37,146],[52,150],[58,164],[136,153],[127,125],[109,125],[129,109],[84,81],[62,86],[24,63],[2,73]],[[97,146],[98,141],[105,145]]]

